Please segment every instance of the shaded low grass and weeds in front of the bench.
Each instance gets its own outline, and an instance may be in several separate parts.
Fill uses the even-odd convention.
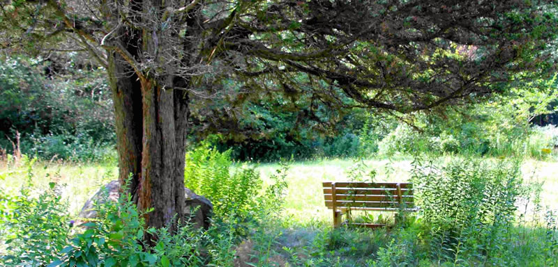
[[[558,266],[558,232],[547,226],[510,227],[483,243],[414,218],[380,229],[275,221],[236,247],[235,266]]]

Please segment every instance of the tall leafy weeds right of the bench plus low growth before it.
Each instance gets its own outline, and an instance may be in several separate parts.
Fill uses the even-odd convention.
[[[557,213],[513,161],[414,163],[421,211],[392,228],[282,220],[239,245],[239,266],[558,266]],[[370,218],[365,215],[363,217]]]

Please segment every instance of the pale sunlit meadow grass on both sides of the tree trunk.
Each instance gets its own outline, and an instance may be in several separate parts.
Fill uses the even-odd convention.
[[[449,158],[441,159],[447,161]],[[262,175],[264,183],[280,168],[279,163],[251,163]],[[236,164],[239,168],[240,164]],[[354,176],[360,179],[375,172],[374,181],[407,181],[412,169],[412,159],[320,159],[296,161],[287,172],[287,194],[284,212],[298,223],[324,220],[329,223],[331,212],[324,206],[322,181],[347,181]],[[234,171],[234,168],[232,168]],[[356,173],[361,172],[361,173]],[[558,162],[527,159],[522,163],[524,181],[542,181],[543,207],[558,209]],[[51,181],[63,185],[61,193],[68,200],[70,213],[77,215],[85,201],[101,185],[117,179],[118,168],[114,163],[66,163],[24,159],[17,164],[0,163],[1,187],[17,191],[32,177],[34,188],[48,188]],[[359,179],[359,178],[356,178]],[[369,178],[368,178],[369,179]]]

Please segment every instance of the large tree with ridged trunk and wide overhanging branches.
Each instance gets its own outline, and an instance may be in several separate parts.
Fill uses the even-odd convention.
[[[0,41],[77,46],[105,67],[120,181],[131,174],[137,207],[154,209],[147,225],[163,227],[184,213],[192,99],[225,99],[211,111],[224,122],[271,93],[304,97],[309,116],[458,104],[552,70],[556,11],[536,0],[4,0]]]

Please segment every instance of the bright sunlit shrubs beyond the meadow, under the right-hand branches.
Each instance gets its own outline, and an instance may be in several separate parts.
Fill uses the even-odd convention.
[[[556,154],[552,152],[555,127],[534,127],[533,122],[538,115],[556,113],[556,77],[521,86],[511,83],[504,94],[486,102],[407,115],[405,122],[422,131],[400,124],[382,140],[380,152],[387,156],[399,152],[547,159]]]

